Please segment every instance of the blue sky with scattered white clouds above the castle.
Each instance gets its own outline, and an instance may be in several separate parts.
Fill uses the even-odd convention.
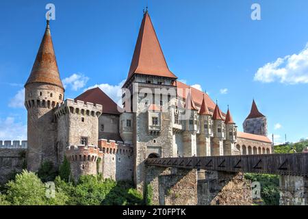
[[[55,4],[51,34],[66,98],[100,84],[117,99],[146,2],[1,1],[0,140],[25,139],[23,84],[44,33],[47,3]],[[253,3],[261,5],[261,21],[251,20]],[[308,138],[308,1],[148,0],[148,5],[170,70],[207,90],[223,111],[229,104],[240,130],[255,98],[276,142],[284,142],[285,133],[293,142]]]

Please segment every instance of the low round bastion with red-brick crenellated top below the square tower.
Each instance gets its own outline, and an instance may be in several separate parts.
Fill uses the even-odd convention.
[[[66,149],[66,158],[70,162],[70,172],[75,181],[81,175],[97,175],[101,172],[103,151],[97,146],[69,146]]]

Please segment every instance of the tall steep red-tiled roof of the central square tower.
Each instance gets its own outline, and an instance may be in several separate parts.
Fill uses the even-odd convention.
[[[155,75],[177,79],[167,66],[164,53],[160,47],[147,10],[144,12],[127,80],[133,74]]]

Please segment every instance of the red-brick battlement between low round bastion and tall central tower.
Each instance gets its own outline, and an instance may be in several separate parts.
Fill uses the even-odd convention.
[[[98,145],[103,154],[132,155],[133,153],[133,147],[130,144],[124,144],[120,141],[116,142],[114,140],[110,140],[108,142],[106,139],[100,139]]]

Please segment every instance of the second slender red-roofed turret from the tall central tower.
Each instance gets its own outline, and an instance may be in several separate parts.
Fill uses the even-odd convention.
[[[203,94],[203,101],[199,111],[199,130],[200,134],[198,135],[198,147],[197,155],[198,156],[210,156],[211,155],[211,136],[213,136],[212,126],[213,120],[211,120],[211,114],[207,107],[205,101],[205,95]]]

